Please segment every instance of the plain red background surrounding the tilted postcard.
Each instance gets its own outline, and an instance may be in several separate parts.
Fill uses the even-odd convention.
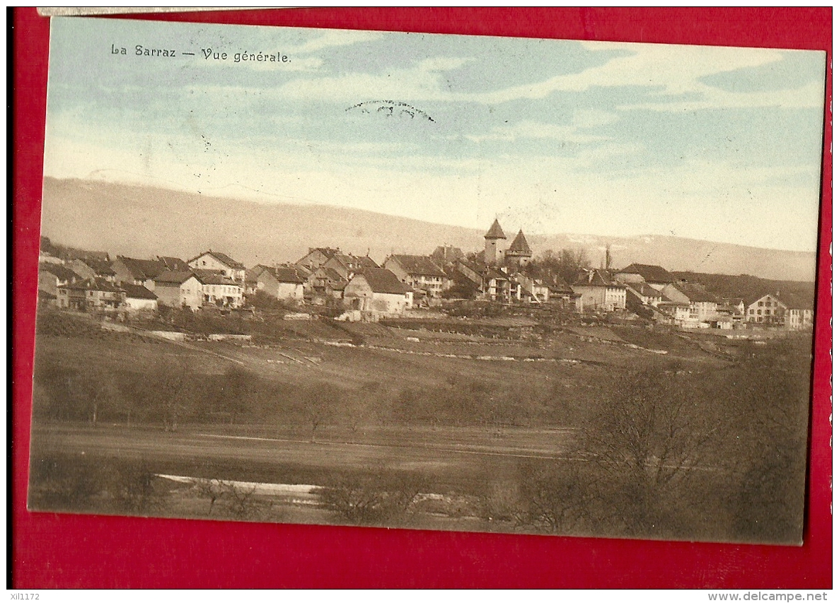
[[[148,17],[133,17],[148,18]],[[831,8],[307,8],[173,21],[822,49]],[[13,12],[15,588],[830,588],[831,141],[826,120],[816,366],[801,548],[434,533],[26,511],[49,19]],[[831,100],[831,73],[827,74]]]

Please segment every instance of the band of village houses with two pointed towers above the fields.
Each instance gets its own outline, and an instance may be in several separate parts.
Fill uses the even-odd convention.
[[[140,259],[54,247],[45,239],[39,256],[39,304],[131,320],[163,308],[253,312],[255,299],[272,299],[289,309],[292,320],[326,312],[337,320],[377,322],[428,318],[435,311],[443,315],[442,309],[475,301],[502,313],[504,308],[539,307],[685,330],[813,326],[813,300],[797,291],[722,297],[659,265],[632,263],[613,269],[608,249],[601,268],[590,268],[578,257],[570,274],[565,267],[570,278],[564,278],[545,266],[544,258],[534,258],[524,231],[509,244],[507,240],[496,220],[484,235],[481,252],[442,245],[427,256],[391,254],[377,263],[337,247],[310,247],[294,263],[246,268],[214,250],[187,261]]]

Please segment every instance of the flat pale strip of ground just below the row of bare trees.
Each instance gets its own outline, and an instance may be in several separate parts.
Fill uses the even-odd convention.
[[[166,433],[125,427],[46,425],[33,429],[34,457],[94,455],[178,465],[294,466],[309,470],[419,470],[457,475],[488,466],[513,466],[521,459],[571,460],[565,456],[569,429],[367,429],[323,431],[316,441],[301,434],[219,434],[208,429]]]

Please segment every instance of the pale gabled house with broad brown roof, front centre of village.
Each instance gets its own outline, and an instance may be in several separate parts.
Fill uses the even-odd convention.
[[[367,268],[344,289],[344,307],[357,310],[362,320],[399,316],[413,305],[411,288],[387,268]]]

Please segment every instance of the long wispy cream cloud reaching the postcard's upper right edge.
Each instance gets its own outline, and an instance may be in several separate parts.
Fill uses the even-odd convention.
[[[658,111],[684,111],[685,107],[818,107],[824,96],[818,83],[810,83],[795,90],[733,92],[708,86],[701,81],[710,75],[771,65],[783,60],[784,52],[793,51],[670,44],[584,45],[593,52],[616,49],[625,52],[605,64],[578,73],[557,75],[544,81],[488,92],[459,92],[447,86],[444,76],[446,71],[456,70],[476,60],[472,57],[430,58],[409,69],[380,74],[355,72],[333,77],[298,79],[290,81],[280,91],[284,96],[296,99],[358,101],[388,95],[411,101],[498,105],[511,101],[545,99],[563,91],[641,87],[648,91],[650,100],[623,108]]]

